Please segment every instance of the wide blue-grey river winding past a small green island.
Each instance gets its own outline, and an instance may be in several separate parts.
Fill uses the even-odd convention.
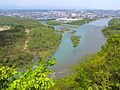
[[[61,44],[53,55],[56,58],[56,64],[52,67],[55,70],[55,76],[63,75],[68,71],[70,65],[78,64],[83,56],[100,50],[101,46],[106,42],[101,30],[108,25],[109,20],[101,19],[76,28],[70,28],[70,30],[75,31],[74,34],[63,33]],[[60,29],[60,27],[58,26],[56,29]],[[77,47],[73,47],[70,40],[73,35],[81,36]]]

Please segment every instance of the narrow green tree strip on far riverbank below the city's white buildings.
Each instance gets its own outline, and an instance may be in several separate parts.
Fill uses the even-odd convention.
[[[97,20],[97,19],[96,18],[94,18],[94,19],[84,18],[82,20],[68,22],[67,24],[71,24],[71,25],[83,25],[85,23],[89,23],[89,22],[95,21],[95,20]]]

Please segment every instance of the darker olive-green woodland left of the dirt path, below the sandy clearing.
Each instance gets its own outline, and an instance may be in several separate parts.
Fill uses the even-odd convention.
[[[32,61],[31,54],[23,50],[26,32],[20,27],[0,32],[0,63],[16,66],[26,65]]]

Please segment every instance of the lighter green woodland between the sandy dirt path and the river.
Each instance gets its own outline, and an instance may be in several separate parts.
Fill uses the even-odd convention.
[[[61,34],[50,27],[35,28],[30,33],[29,49],[38,52],[40,58],[50,57],[59,46]]]

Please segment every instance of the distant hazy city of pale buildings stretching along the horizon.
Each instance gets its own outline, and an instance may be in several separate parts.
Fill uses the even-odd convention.
[[[58,21],[77,20],[83,18],[111,18],[120,17],[120,10],[32,10],[32,9],[15,9],[15,10],[0,10],[0,15],[27,17],[38,20],[55,19]]]

